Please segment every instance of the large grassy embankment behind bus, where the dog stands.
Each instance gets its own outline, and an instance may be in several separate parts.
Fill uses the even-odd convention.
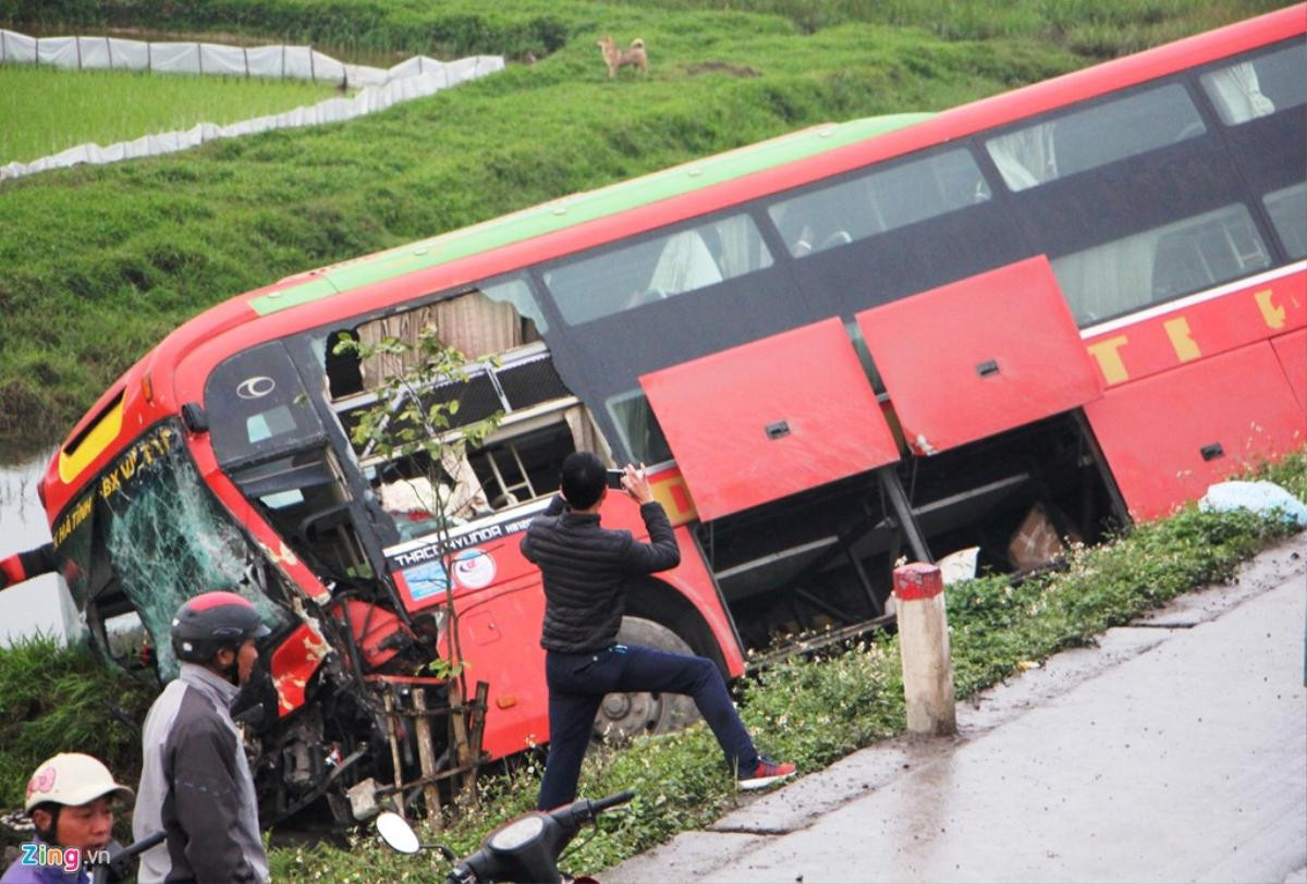
[[[0,450],[60,437],[180,321],[285,274],[823,120],[941,110],[1276,4],[718,5],[0,0],[10,25],[541,57],[349,124],[0,187]],[[604,33],[643,37],[651,76],[609,82]]]

